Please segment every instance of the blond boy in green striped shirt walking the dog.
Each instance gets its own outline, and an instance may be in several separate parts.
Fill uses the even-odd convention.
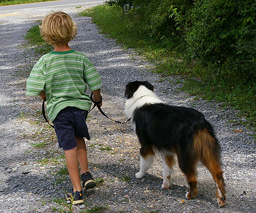
[[[52,12],[43,18],[40,33],[54,46],[33,67],[27,79],[26,95],[47,98],[47,112],[54,123],[58,143],[63,148],[73,188],[68,202],[83,204],[83,189],[96,186],[88,170],[84,137],[90,139],[86,117],[92,104],[85,91],[92,91],[93,101],[102,105],[101,76],[89,59],[68,46],[77,33],[76,24],[64,12]],[[79,175],[82,177],[82,186]]]

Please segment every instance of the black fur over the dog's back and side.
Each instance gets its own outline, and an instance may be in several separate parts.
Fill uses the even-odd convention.
[[[158,150],[192,145],[193,136],[202,129],[208,129],[216,138],[204,115],[187,107],[145,104],[134,111],[133,122],[139,142],[154,145]]]

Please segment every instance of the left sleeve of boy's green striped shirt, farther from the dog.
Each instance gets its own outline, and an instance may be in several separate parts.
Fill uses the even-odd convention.
[[[29,78],[27,78],[26,81],[27,96],[38,96],[38,94],[44,89],[45,74],[42,71],[43,67],[43,60],[39,59],[30,72]]]

